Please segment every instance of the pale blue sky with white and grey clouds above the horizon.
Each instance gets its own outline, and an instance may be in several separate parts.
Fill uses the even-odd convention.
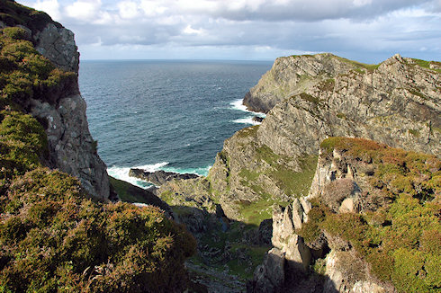
[[[331,52],[364,63],[441,60],[441,0],[17,0],[76,35],[85,59],[274,60]]]

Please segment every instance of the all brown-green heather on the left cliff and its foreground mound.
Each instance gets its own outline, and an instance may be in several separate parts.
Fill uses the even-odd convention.
[[[0,4],[6,23],[35,27],[49,18]],[[28,33],[0,31],[0,292],[183,289],[184,259],[195,248],[184,226],[155,207],[88,199],[76,178],[42,166],[47,137],[24,111],[31,98],[55,102],[76,74],[43,58]]]

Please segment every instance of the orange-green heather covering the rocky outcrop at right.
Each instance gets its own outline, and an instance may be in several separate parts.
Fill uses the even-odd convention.
[[[374,164],[372,189],[364,197],[376,194],[386,200],[363,214],[338,214],[323,200],[316,202],[300,234],[307,242],[322,230],[346,239],[377,278],[392,281],[400,292],[438,291],[441,161],[359,138],[328,138],[321,147],[325,154],[336,148],[357,162]]]

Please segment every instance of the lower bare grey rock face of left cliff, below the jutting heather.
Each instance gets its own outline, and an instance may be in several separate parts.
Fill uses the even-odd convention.
[[[96,154],[85,117],[85,100],[79,94],[62,97],[58,104],[32,100],[31,114],[48,121],[49,167],[76,176],[87,193],[109,200],[106,165]]]

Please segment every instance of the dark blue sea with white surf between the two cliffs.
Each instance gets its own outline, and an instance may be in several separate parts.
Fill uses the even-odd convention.
[[[225,138],[256,122],[241,105],[265,61],[82,61],[80,90],[98,154],[116,178],[130,167],[206,175]]]

